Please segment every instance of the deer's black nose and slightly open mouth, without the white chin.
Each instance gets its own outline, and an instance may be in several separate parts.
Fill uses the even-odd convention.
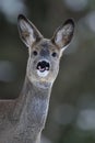
[[[37,64],[37,69],[41,73],[45,70],[49,70],[49,68],[50,68],[50,64],[46,61],[38,62]]]

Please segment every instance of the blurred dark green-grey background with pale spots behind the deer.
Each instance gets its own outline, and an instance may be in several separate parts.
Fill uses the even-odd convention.
[[[73,18],[75,33],[54,85],[43,143],[95,143],[95,0],[0,0],[0,98],[22,89],[27,47],[16,19],[25,14],[46,36]]]

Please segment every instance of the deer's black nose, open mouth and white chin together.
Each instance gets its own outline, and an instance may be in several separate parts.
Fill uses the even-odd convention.
[[[46,61],[38,62],[38,64],[37,64],[38,76],[40,76],[40,77],[47,76],[49,73],[49,69],[50,69],[50,64],[48,62],[46,62]]]

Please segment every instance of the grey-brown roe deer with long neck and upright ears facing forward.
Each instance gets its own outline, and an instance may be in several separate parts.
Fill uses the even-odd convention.
[[[24,86],[19,98],[0,101],[0,143],[39,143],[60,57],[71,42],[74,22],[68,19],[50,40],[20,14],[20,37],[28,47]]]

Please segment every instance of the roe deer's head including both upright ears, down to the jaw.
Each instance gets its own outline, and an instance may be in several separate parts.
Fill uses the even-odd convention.
[[[60,57],[73,36],[73,20],[68,19],[50,40],[45,38],[22,14],[19,15],[17,24],[20,37],[28,47],[26,76],[36,85],[52,84],[59,72]]]

